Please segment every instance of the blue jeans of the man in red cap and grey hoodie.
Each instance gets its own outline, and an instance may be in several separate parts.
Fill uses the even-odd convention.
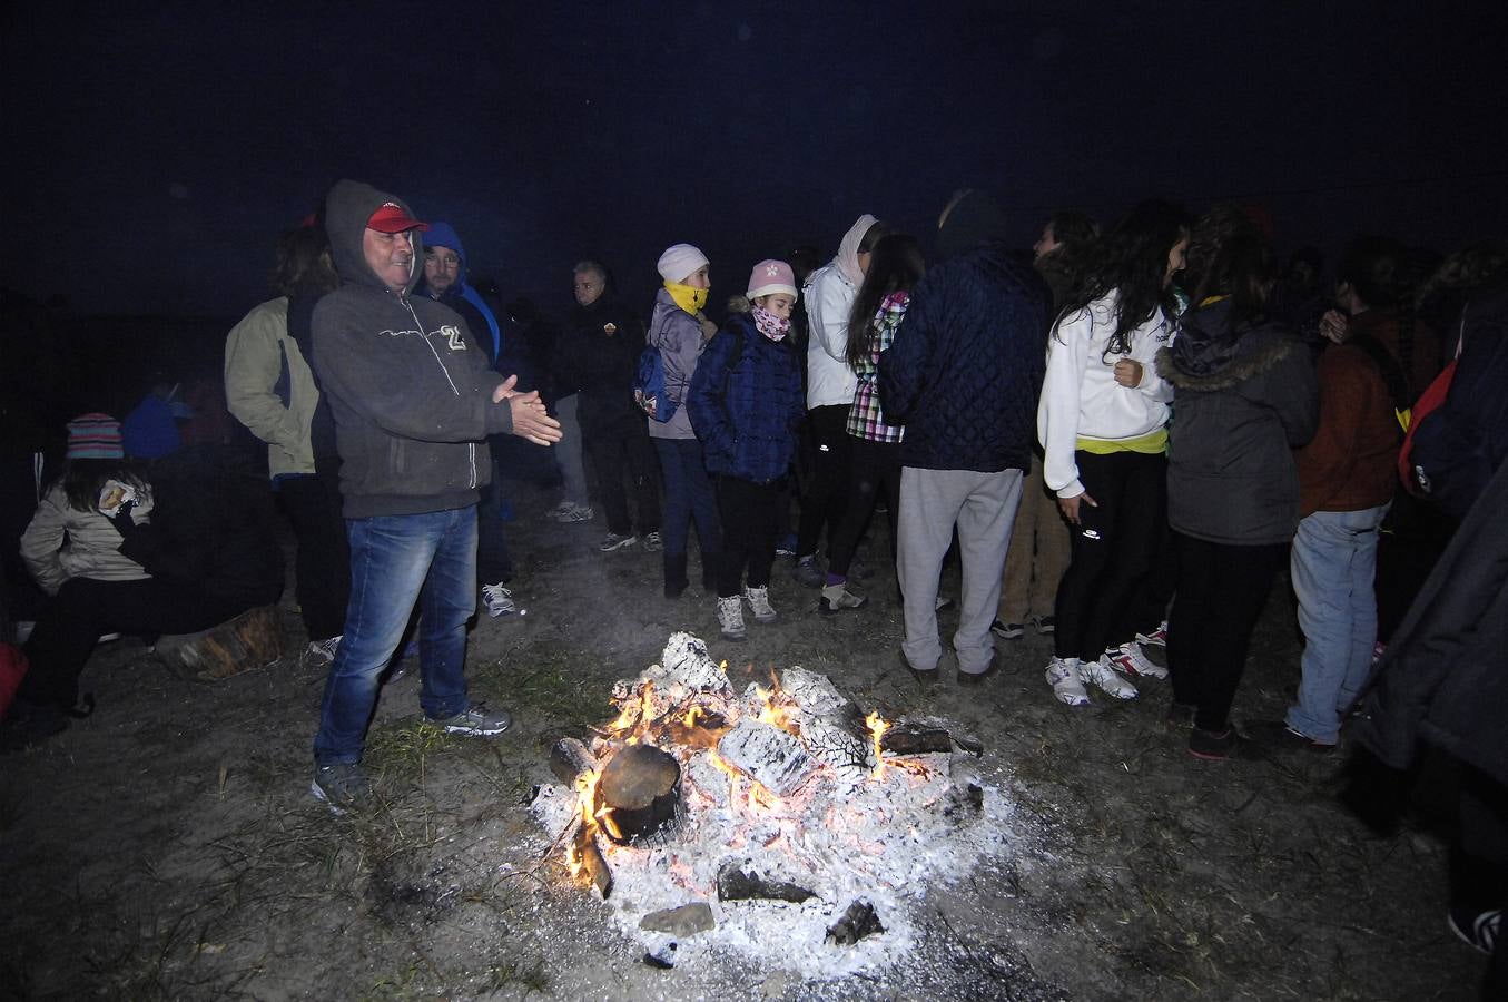
[[[324,682],[314,761],[359,762],[379,678],[421,605],[419,706],[431,720],[466,709],[466,620],[477,611],[477,507],[347,519],[351,601]]]

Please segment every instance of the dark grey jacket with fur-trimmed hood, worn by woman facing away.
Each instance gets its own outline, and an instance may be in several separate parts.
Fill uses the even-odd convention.
[[[1190,309],[1158,374],[1173,385],[1167,521],[1212,543],[1286,543],[1298,528],[1292,450],[1320,426],[1309,352],[1286,327],[1232,329],[1229,300]]]

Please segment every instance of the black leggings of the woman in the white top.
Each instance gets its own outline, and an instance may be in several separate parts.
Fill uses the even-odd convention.
[[[1069,563],[1057,586],[1053,646],[1060,658],[1096,659],[1136,634],[1136,596],[1167,521],[1167,460],[1142,453],[1078,451],[1078,478],[1098,507],[1080,503]]]

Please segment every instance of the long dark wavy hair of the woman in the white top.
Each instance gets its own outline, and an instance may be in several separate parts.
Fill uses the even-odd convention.
[[[1105,346],[1105,358],[1129,352],[1131,332],[1158,308],[1169,315],[1175,312],[1176,300],[1164,282],[1167,257],[1187,235],[1188,213],[1181,205],[1148,199],[1133,208],[1095,243],[1057,323],[1117,291],[1116,330]]]

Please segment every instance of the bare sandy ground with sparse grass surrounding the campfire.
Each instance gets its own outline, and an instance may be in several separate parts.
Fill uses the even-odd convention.
[[[495,741],[445,736],[419,720],[416,673],[389,685],[369,810],[336,818],[309,797],[323,670],[290,656],[202,685],[137,640],[101,646],[84,676],[98,712],[0,759],[0,997],[1475,996],[1481,958],[1443,924],[1443,842],[1413,821],[1362,824],[1341,801],[1347,756],[1194,761],[1163,724],[1166,682],[1136,702],[1060,706],[1041,675],[1051,646],[1031,632],[997,641],[1004,670],[986,687],[949,678],[923,693],[896,667],[884,567],[866,608],[826,619],[783,561],[781,620],[722,643],[698,587],[661,596],[657,555],[599,554],[600,518],[555,525],[540,516],[552,498],[514,490],[526,614],[484,616],[469,672],[474,694],[517,724]],[[302,647],[291,589],[284,607]],[[944,613],[944,637],[953,623]],[[1279,589],[1238,717],[1280,714],[1292,623]],[[644,963],[546,854],[550,834],[525,804],[550,780],[549,745],[611,718],[612,681],[676,629],[706,637],[734,676],[799,664],[866,709],[979,735],[1022,838],[965,880],[918,889],[917,948],[857,975],[804,976],[715,946],[670,970]]]

